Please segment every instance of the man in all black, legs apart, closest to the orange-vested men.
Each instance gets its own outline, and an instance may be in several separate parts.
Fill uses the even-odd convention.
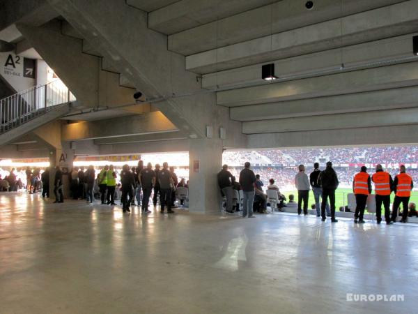
[[[328,197],[330,197],[330,207],[331,207],[331,222],[337,223],[338,220],[335,219],[335,190],[338,188],[339,181],[336,177],[335,170],[332,168],[332,163],[327,162],[327,167],[325,170],[321,171],[318,176],[318,184],[323,190],[323,201],[320,207],[320,214],[322,220],[325,221],[327,217],[325,216],[325,207],[327,204]]]

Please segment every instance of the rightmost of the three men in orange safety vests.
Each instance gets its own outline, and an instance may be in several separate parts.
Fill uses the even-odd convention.
[[[412,177],[405,173],[405,166],[399,167],[400,173],[394,180],[395,200],[392,207],[392,222],[396,223],[396,216],[398,216],[399,205],[402,203],[403,214],[401,223],[406,223],[408,218],[408,202],[411,196],[411,190],[414,188]]]

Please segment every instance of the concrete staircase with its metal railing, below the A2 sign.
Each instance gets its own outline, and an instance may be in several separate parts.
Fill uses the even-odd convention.
[[[70,111],[76,98],[61,80],[0,100],[0,146]]]

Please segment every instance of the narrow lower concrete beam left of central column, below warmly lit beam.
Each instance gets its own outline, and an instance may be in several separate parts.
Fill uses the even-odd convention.
[[[178,131],[169,133],[156,133],[146,135],[130,135],[121,137],[110,137],[101,138],[94,140],[96,145],[107,145],[107,144],[126,144],[126,143],[139,143],[139,142],[161,142],[168,140],[186,140],[187,135],[181,134]]]

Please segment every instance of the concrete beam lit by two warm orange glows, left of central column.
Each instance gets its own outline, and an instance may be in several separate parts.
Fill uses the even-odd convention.
[[[91,140],[176,130],[176,126],[164,114],[161,112],[149,112],[118,119],[66,124],[62,128],[61,139],[64,141]]]

